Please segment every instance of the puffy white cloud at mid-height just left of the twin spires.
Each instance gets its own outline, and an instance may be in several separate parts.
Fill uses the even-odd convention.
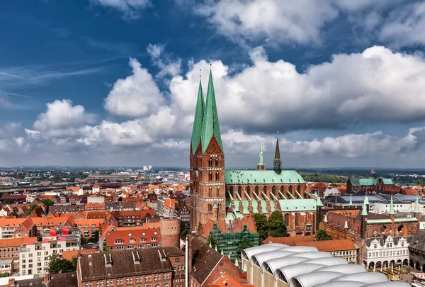
[[[132,75],[118,79],[105,99],[105,108],[118,116],[142,117],[156,113],[164,96],[147,69],[130,58]]]

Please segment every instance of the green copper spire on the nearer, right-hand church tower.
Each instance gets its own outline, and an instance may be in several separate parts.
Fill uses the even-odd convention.
[[[223,145],[220,135],[220,125],[218,125],[217,104],[215,103],[214,84],[212,83],[212,73],[210,71],[210,79],[208,81],[207,101],[205,103],[203,115],[203,128],[201,134],[202,152],[207,150],[212,136],[217,140],[223,151]]]

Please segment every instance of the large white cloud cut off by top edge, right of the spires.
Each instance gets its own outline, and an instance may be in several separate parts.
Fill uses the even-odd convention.
[[[341,13],[358,16],[365,9],[380,11],[402,1],[219,0],[196,6],[196,13],[205,16],[218,33],[239,43],[260,40],[305,45],[322,43],[322,28]]]

